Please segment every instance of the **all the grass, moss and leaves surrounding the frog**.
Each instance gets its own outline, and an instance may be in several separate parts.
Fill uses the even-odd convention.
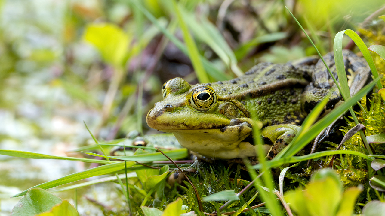
[[[0,154],[90,164],[54,180],[19,186],[23,191],[13,195],[24,197],[12,216],[63,215],[64,211],[77,215],[75,209],[81,215],[92,215],[82,209],[85,202],[104,215],[384,215],[383,2],[3,0],[0,5],[0,111],[22,116],[18,130],[27,125],[33,131],[26,133],[31,137],[23,138],[0,126]],[[15,28],[18,22],[12,12],[18,6],[24,8],[25,17],[19,20],[20,28]],[[59,16],[39,20],[47,8],[57,9]],[[352,97],[343,79],[343,47],[365,57],[373,73],[373,82]],[[316,121],[327,102],[321,101],[306,117],[300,133],[273,160],[258,155],[259,164],[254,166],[247,161],[246,166],[220,160],[181,161],[188,155],[186,149],[170,148],[172,138],[154,135],[142,123],[154,102],[161,99],[162,83],[170,78],[183,76],[190,83],[227,80],[257,62],[285,63],[331,51],[345,102]],[[46,88],[45,96],[37,87]],[[49,91],[54,90],[60,99],[52,99]],[[25,114],[30,109],[23,114],[23,106],[37,107],[38,114]],[[69,138],[75,133],[60,133],[63,142],[84,144],[66,149],[72,150],[73,157],[6,145],[10,141],[30,143],[32,136],[39,141],[52,136],[41,122],[57,119],[60,109],[90,126],[85,125],[82,138],[76,141]],[[79,116],[79,110],[97,114]],[[346,125],[340,129],[346,141],[339,148],[339,143],[328,141],[323,151],[295,156],[347,111],[350,115],[344,116]],[[253,133],[259,148],[263,143],[260,131]],[[161,144],[134,146],[131,143],[141,141],[137,135]],[[116,146],[124,150],[110,156]],[[126,151],[126,146],[131,149]],[[310,166],[308,160],[313,160]],[[334,170],[317,172],[327,167]],[[181,181],[179,168],[191,182],[187,178]],[[109,176],[102,176],[105,174]],[[100,178],[80,181],[94,176]],[[90,198],[78,208],[78,190],[110,181],[117,186],[114,208]],[[75,191],[70,202],[76,208],[48,189],[52,193]],[[81,197],[88,196],[82,193]]]

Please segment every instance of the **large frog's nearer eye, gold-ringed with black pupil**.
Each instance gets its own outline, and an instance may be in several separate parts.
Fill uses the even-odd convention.
[[[197,88],[191,95],[191,106],[198,110],[208,110],[216,103],[216,94],[208,87]]]

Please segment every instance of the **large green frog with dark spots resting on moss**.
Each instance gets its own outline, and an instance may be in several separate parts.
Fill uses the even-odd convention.
[[[337,78],[333,53],[323,58]],[[371,79],[370,69],[363,58],[348,50],[343,51],[343,58],[353,95]],[[196,85],[182,78],[166,81],[163,100],[155,103],[146,120],[151,128],[173,133],[183,147],[224,160],[255,158],[252,131],[257,127],[265,143],[264,154],[271,160],[293,140],[306,115],[328,93],[323,115],[343,99],[317,58],[259,63],[228,81]],[[251,109],[258,116],[257,124],[251,120]]]

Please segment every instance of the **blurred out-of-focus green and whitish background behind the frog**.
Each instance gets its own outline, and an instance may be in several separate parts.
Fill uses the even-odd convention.
[[[321,54],[331,51],[341,30],[380,34],[378,16],[364,20],[384,6],[383,0],[176,3],[0,0],[0,148],[65,156],[67,150],[87,145],[90,135],[83,121],[100,140],[121,138],[131,130],[156,133],[145,118],[161,100],[162,83],[174,77],[192,84],[205,81],[194,73],[199,68],[191,56],[159,30],[165,28],[182,42],[180,17],[207,60],[206,79],[218,81],[259,62],[285,63],[316,54],[285,5],[311,33]],[[156,23],[143,12],[151,13]],[[9,197],[20,190],[82,169],[80,162],[0,156],[0,215],[9,215],[18,200]],[[116,203],[123,200],[114,195],[115,185],[107,187],[84,193],[119,208]],[[62,196],[73,198],[71,193]],[[87,205],[79,211],[100,214]]]

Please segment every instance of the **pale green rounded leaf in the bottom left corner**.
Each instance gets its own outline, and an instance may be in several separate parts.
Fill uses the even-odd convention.
[[[34,216],[50,211],[62,199],[41,188],[29,189],[12,209],[11,216]]]

